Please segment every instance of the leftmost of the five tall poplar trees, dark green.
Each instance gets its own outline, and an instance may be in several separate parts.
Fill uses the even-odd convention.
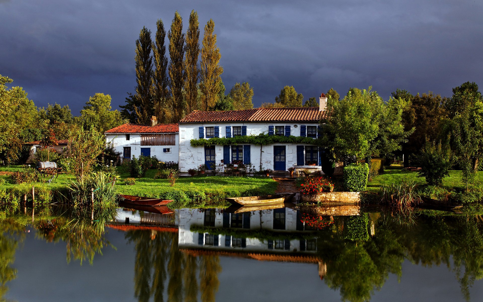
[[[147,124],[153,114],[151,98],[151,79],[153,77],[153,56],[151,56],[151,30],[142,27],[139,39],[136,40],[136,95],[134,111],[136,121]]]

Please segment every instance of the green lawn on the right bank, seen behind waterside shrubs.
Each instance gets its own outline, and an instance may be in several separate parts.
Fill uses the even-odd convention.
[[[368,191],[376,192],[379,187],[383,185],[390,185],[392,183],[398,183],[403,178],[413,179],[416,183],[424,185],[426,184],[425,177],[418,177],[417,172],[409,172],[401,170],[401,167],[388,167],[389,169],[384,171],[384,174],[375,176],[372,181],[368,182]],[[479,171],[476,174],[475,185],[483,185],[483,172]],[[450,176],[443,179],[443,186],[449,191],[453,189],[464,189],[465,185],[461,182],[461,171],[450,171]]]

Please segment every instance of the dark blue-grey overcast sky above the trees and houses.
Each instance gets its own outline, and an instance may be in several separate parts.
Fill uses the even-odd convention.
[[[254,104],[283,86],[304,99],[331,87],[372,86],[385,100],[396,88],[450,97],[483,86],[481,0],[0,0],[0,74],[37,106],[69,104],[74,115],[96,92],[113,109],[136,85],[134,46],[174,12],[187,28],[198,11],[215,22],[223,82],[254,87]],[[168,38],[166,38],[168,43]]]

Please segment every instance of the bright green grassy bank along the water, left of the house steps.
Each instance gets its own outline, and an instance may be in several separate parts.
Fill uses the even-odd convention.
[[[15,172],[21,166],[1,167],[1,172]],[[154,179],[156,170],[148,170],[146,175],[136,178],[134,185],[125,185],[128,173],[118,169],[120,178],[116,181],[119,194],[137,195],[154,198],[172,199],[172,207],[226,206],[225,197],[273,194],[277,182],[268,177],[232,177],[232,176],[194,176],[180,177],[174,187],[167,179]],[[13,184],[8,175],[0,175],[5,184],[0,185],[0,200],[15,201],[27,193],[31,200],[32,184]],[[47,181],[49,178],[44,178]],[[51,184],[37,182],[36,201],[52,201],[57,192],[66,190],[66,185],[75,180],[70,174],[60,174]],[[3,195],[2,195],[3,194]]]

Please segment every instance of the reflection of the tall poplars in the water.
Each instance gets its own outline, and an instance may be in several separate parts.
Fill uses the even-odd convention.
[[[126,238],[135,244],[134,295],[139,301],[153,296],[161,302],[197,302],[199,292],[202,302],[215,301],[221,272],[218,256],[194,257],[179,251],[178,234],[172,232],[130,231]]]

